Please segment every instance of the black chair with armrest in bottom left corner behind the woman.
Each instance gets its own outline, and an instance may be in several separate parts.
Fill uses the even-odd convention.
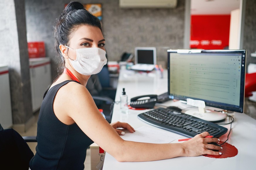
[[[0,169],[28,170],[34,153],[27,142],[37,141],[35,136],[22,137],[14,129],[3,129],[0,124]]]

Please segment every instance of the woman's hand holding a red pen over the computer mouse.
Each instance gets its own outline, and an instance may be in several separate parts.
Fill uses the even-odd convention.
[[[208,144],[211,142],[219,142],[219,139],[217,138],[205,138],[206,136],[209,136],[210,134],[208,132],[203,132],[198,135],[196,135],[194,138],[185,141],[184,144],[185,147],[185,155],[186,156],[199,156],[204,154],[209,155],[221,155],[221,152],[219,150],[222,149],[220,146]],[[213,151],[218,150],[218,151]]]

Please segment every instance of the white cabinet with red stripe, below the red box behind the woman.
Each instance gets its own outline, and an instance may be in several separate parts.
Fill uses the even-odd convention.
[[[33,112],[40,109],[43,95],[51,84],[50,58],[30,58],[30,84]]]

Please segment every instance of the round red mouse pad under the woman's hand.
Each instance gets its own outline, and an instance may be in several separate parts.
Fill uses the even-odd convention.
[[[218,142],[218,144],[223,143],[222,141]],[[203,155],[205,157],[210,157],[210,158],[230,158],[230,157],[234,157],[238,154],[238,150],[237,148],[235,148],[235,146],[230,145],[229,143],[224,143],[223,145],[221,145],[222,150],[220,150],[220,152],[222,153],[221,155]]]

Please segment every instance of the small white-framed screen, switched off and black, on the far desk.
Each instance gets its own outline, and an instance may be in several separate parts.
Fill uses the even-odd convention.
[[[156,65],[155,47],[135,47],[135,64]]]

